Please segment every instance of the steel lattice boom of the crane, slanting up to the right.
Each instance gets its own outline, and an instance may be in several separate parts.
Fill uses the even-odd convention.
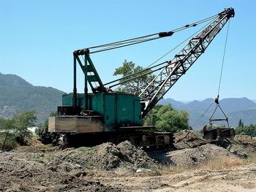
[[[220,12],[214,21],[206,26],[200,34],[189,40],[188,44],[174,56],[173,60],[170,60],[168,65],[154,77],[154,80],[140,93],[141,103],[143,104],[142,116],[145,116],[177,80],[187,72],[234,15],[233,8],[227,8]]]

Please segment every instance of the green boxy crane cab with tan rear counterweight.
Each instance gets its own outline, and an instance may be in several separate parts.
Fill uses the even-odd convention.
[[[62,106],[58,107],[59,116],[49,119],[51,132],[87,133],[143,126],[138,96],[127,93],[90,93],[88,110],[84,110],[84,94],[78,93],[78,115],[74,115],[72,99],[72,93],[62,96]]]

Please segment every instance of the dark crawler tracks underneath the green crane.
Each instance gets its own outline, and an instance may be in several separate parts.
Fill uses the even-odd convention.
[[[118,144],[128,140],[146,151],[167,150],[173,147],[174,137],[170,132],[115,131],[104,133],[64,134],[63,142],[68,147],[94,146],[104,142]]]

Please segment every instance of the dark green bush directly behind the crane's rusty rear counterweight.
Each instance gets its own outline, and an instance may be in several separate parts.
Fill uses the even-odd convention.
[[[50,117],[56,117],[57,112],[52,112]],[[50,133],[48,131],[48,118],[43,122],[40,123],[39,126],[36,128],[36,134],[41,139],[43,144],[59,144],[59,133]]]

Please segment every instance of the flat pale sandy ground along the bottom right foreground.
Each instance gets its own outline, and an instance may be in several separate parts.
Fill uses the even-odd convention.
[[[196,170],[158,176],[97,177],[123,191],[256,191],[256,165]]]

